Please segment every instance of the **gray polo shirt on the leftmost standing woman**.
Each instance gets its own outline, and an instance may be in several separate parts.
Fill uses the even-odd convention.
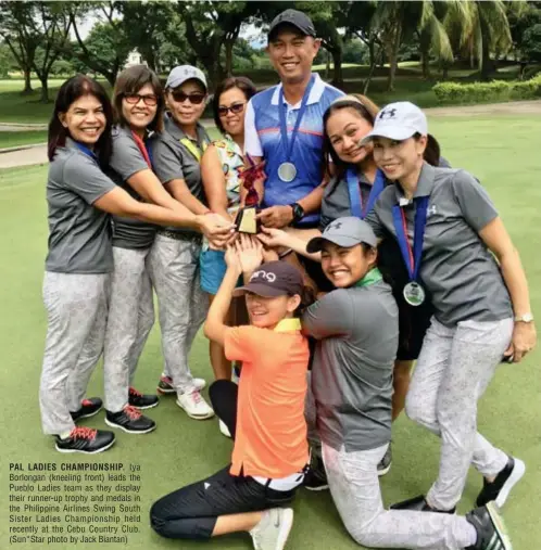
[[[49,165],[49,253],[46,270],[60,273],[113,271],[111,217],[92,204],[115,189],[98,162],[66,139]]]

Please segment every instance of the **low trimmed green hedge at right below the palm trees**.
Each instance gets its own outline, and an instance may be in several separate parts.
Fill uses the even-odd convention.
[[[541,75],[530,80],[494,80],[492,82],[438,82],[432,88],[444,103],[482,103],[541,98]]]

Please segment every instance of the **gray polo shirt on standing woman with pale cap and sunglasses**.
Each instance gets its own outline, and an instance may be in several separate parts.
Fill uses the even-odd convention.
[[[152,150],[152,165],[158,178],[162,183],[167,183],[174,179],[184,179],[192,195],[206,204],[199,161],[180,143],[180,140],[188,138],[202,151],[203,143],[211,142],[209,135],[198,124],[198,139],[193,140],[178,127],[169,115],[165,116],[164,126],[164,131],[153,137],[149,143]],[[199,234],[191,229],[178,227],[168,227],[167,230]]]

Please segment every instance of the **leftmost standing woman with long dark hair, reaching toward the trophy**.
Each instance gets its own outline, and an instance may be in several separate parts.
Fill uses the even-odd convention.
[[[112,150],[111,102],[103,87],[83,75],[59,90],[49,124],[49,252],[43,280],[48,330],[39,401],[43,432],[61,452],[100,452],[111,432],[76,427],[96,414],[98,398],[84,399],[103,350],[113,271],[110,215],[203,228],[223,243],[229,227],[187,208],[167,209],[134,200],[105,172]]]

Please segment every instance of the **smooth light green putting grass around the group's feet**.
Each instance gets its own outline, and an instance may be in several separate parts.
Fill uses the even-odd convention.
[[[541,255],[539,253],[541,186],[539,143],[541,120],[533,116],[431,119],[443,154],[453,166],[469,169],[487,187],[518,247],[530,283],[533,312],[541,316]],[[215,419],[198,422],[178,409],[171,397],[149,411],[158,430],[149,435],[117,432],[116,445],[92,458],[60,455],[51,437],[41,434],[38,384],[46,331],[41,302],[43,258],[47,248],[45,201],[47,167],[0,171],[0,349],[3,414],[1,430],[2,489],[0,548],[43,550],[46,546],[9,542],[10,462],[125,462],[142,472],[140,533],[129,539],[130,550],[248,550],[247,535],[211,542],[161,539],[148,526],[151,503],[164,494],[223,468],[231,443],[218,432]],[[539,324],[539,322],[538,322]],[[480,404],[479,429],[494,444],[524,459],[527,474],[504,510],[515,550],[537,550],[541,539],[541,350],[518,364],[502,366]],[[191,356],[196,375],[211,380],[207,344],[199,336]],[[162,370],[160,333],[154,328],[141,358],[136,386],[152,392]],[[103,395],[101,366],[88,395]],[[103,413],[86,422],[105,427]],[[402,417],[393,427],[392,470],[382,481],[386,504],[426,491],[438,470],[439,442]],[[59,468],[60,470],[60,468]],[[473,508],[481,487],[471,470],[458,507]],[[329,494],[300,490],[288,550],[354,550],[360,548],[344,530]],[[51,550],[115,550],[118,545],[49,545]]]

